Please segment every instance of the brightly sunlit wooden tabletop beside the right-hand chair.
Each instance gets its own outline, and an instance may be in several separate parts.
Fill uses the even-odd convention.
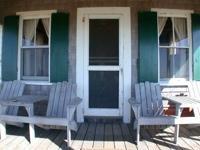
[[[200,106],[200,99],[187,96],[163,96],[164,99],[181,105],[181,107],[196,107]]]

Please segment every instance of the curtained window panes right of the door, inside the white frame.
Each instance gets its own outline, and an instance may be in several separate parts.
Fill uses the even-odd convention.
[[[160,80],[190,78],[190,38],[187,17],[158,17]]]

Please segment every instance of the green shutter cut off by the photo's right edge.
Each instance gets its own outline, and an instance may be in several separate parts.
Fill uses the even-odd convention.
[[[200,14],[192,14],[193,80],[200,80]]]

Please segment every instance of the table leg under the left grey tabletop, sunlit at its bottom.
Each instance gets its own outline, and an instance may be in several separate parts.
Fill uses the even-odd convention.
[[[27,109],[28,115],[33,116],[33,105],[29,106]],[[35,139],[35,128],[34,124],[29,123],[29,137],[30,137],[30,142],[32,143]]]

